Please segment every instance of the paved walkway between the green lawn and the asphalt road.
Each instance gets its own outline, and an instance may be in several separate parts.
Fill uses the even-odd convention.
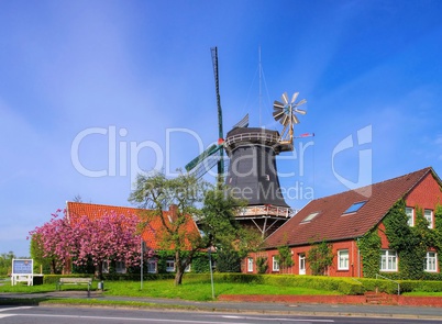
[[[340,315],[340,316],[383,316],[399,319],[439,319],[442,321],[441,308],[426,306],[387,306],[387,305],[355,305],[355,304],[320,304],[320,303],[278,303],[278,302],[196,302],[179,299],[128,298],[110,297],[92,291],[54,291],[47,293],[0,293],[0,305],[5,299],[54,299],[63,304],[65,298],[85,298],[107,301],[137,301],[150,303],[152,308],[189,308],[190,310],[231,313],[261,313],[261,314],[294,314],[294,315]],[[90,305],[88,305],[90,306]]]

